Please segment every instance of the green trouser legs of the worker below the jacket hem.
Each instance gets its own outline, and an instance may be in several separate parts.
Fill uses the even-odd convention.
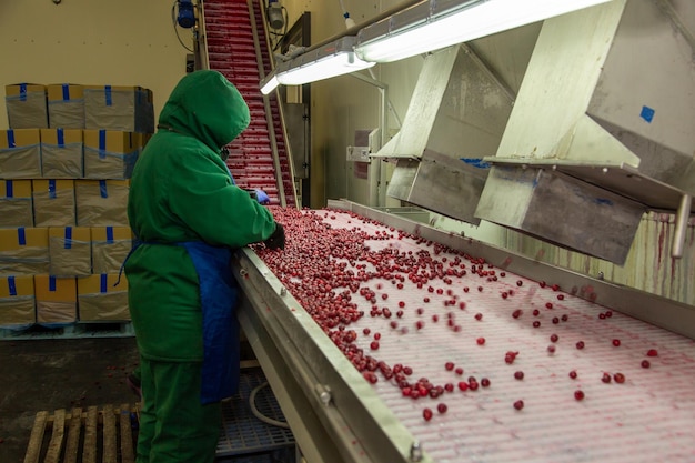
[[[138,463],[212,463],[220,439],[219,403],[201,405],[202,363],[140,359],[142,410]]]

